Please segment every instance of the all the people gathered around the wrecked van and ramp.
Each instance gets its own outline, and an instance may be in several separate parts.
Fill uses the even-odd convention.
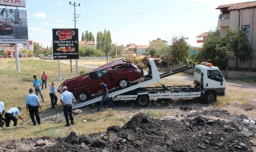
[[[30,119],[33,122],[33,125],[36,126],[36,124],[38,124],[38,125],[41,124],[41,119],[40,119],[39,112],[38,112],[38,110],[41,109],[41,104],[40,104],[40,100],[38,98],[38,93],[41,96],[42,102],[44,102],[44,96],[41,92],[41,86],[42,86],[42,88],[44,88],[44,86],[45,86],[45,89],[46,89],[47,75],[46,75],[46,72],[43,73],[43,75],[42,75],[43,82],[40,79],[38,79],[36,77],[36,75],[34,75],[33,78],[34,78],[33,86],[34,86],[36,95],[33,93],[34,92],[33,88],[30,88],[28,90],[29,95],[25,99],[25,104],[26,104],[26,110],[29,111]],[[104,82],[102,80],[99,81],[99,85],[102,86],[103,96],[102,96],[102,101],[100,102],[97,111],[100,111],[101,107],[104,104],[104,101],[106,101],[106,100],[109,102],[110,106],[112,106],[112,108],[115,109],[114,104],[112,104],[112,101],[110,101],[110,98],[108,96],[107,85],[104,84]],[[55,109],[55,106],[57,105],[57,100],[58,100],[55,93],[56,92],[55,92],[54,83],[51,83],[49,96],[51,98],[51,108],[52,109]],[[73,110],[72,110],[74,100],[75,100],[75,97],[73,96],[73,93],[67,91],[67,86],[63,86],[62,94],[60,96],[60,102],[63,106],[64,116],[65,116],[65,120],[66,120],[65,127],[70,127],[70,122],[71,122],[71,124],[75,124],[74,117],[73,117]],[[0,101],[0,127],[4,127],[4,122],[6,122],[5,123],[6,127],[9,127],[9,123],[11,120],[14,122],[14,126],[17,126],[17,118],[15,117],[15,115],[18,115],[20,117],[20,119],[22,119],[22,121],[25,122],[25,120],[22,118],[22,116],[20,114],[20,111],[21,111],[21,107],[12,107],[4,114],[4,112],[5,112],[4,111],[4,102]],[[5,118],[3,118],[3,115]],[[35,119],[35,117],[36,117],[36,119]]]

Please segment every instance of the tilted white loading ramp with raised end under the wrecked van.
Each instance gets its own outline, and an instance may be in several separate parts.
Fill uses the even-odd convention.
[[[144,86],[149,85],[151,83],[159,81],[160,80],[160,75],[159,75],[159,72],[157,70],[156,64],[154,64],[154,60],[149,58],[149,64],[152,67],[152,78],[150,78],[150,79],[147,79],[146,77],[141,78],[141,79],[143,79],[142,82],[136,83],[135,85],[131,85],[128,88],[124,88],[122,90],[112,91],[111,93],[109,93],[109,97],[111,98],[112,96],[117,96],[117,95],[120,95],[122,93],[128,92],[130,90],[135,90],[136,88],[141,88],[141,87],[144,87]],[[102,100],[102,96],[97,96],[96,95],[96,98],[92,98],[91,100],[88,100],[86,102],[80,102],[79,104],[74,103],[73,109],[79,109],[83,106],[87,106],[89,104],[94,104],[94,103],[99,102],[101,100]]]

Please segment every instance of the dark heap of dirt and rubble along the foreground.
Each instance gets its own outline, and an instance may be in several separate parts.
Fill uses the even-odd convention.
[[[70,132],[66,138],[44,138],[48,143],[43,146],[35,144],[39,139],[3,142],[0,151],[252,151],[256,130],[239,123],[244,116],[232,119],[227,111],[202,113],[181,121],[139,113],[123,127],[110,126],[107,132],[88,136]],[[209,119],[207,115],[231,121]],[[24,144],[26,148],[21,148]]]

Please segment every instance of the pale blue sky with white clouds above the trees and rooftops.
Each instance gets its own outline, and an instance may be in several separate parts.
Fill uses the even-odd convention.
[[[218,25],[221,4],[249,0],[73,0],[78,14],[79,39],[88,30],[94,34],[110,30],[112,43],[149,46],[149,41],[174,36],[188,38],[200,46],[197,35]],[[13,9],[14,7],[7,7]],[[53,28],[75,28],[74,7],[66,0],[26,0],[28,38],[51,46]],[[170,43],[169,43],[170,44]]]

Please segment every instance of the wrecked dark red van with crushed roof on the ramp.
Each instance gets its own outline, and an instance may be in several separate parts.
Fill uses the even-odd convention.
[[[102,86],[99,80],[107,84],[108,89],[126,88],[130,82],[143,77],[141,67],[137,67],[131,62],[115,60],[94,69],[92,72],[65,80],[59,86],[59,93],[62,93],[62,87],[67,86],[68,91],[73,93],[76,100],[87,101],[91,95],[99,93]]]

